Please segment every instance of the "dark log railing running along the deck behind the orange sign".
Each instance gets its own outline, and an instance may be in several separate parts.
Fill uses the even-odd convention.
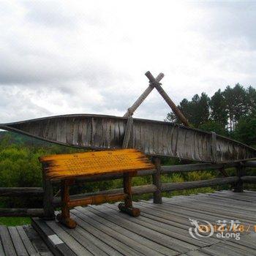
[[[256,167],[255,161],[234,162],[227,164],[197,163],[190,165],[170,165],[161,166],[160,158],[153,157],[152,161],[156,168],[154,170],[143,170],[138,172],[138,176],[152,176],[152,184],[132,187],[133,195],[143,195],[153,193],[154,203],[162,203],[162,192],[172,192],[175,190],[195,189],[200,187],[211,187],[216,185],[231,184],[234,192],[243,192],[244,183],[256,183],[256,176],[246,176],[246,167]],[[225,169],[236,167],[236,176],[227,176]],[[162,183],[161,175],[167,173],[188,173],[200,170],[219,170],[222,178],[211,178],[200,181],[185,181],[181,183]],[[108,174],[103,176],[93,176],[91,178],[77,178],[76,184],[86,184],[91,181],[106,181],[122,178],[122,174]],[[54,210],[61,206],[61,198],[53,197],[53,187],[58,187],[59,182],[45,180],[42,173],[43,186],[41,187],[1,187],[1,197],[37,197],[42,200],[42,208],[0,208],[0,217],[45,217],[53,218]],[[123,192],[123,189],[111,189],[100,192],[91,192],[79,195],[71,195],[71,199],[79,199],[93,195],[111,195]]]

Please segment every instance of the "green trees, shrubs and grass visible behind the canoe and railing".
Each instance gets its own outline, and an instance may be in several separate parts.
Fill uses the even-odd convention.
[[[191,100],[183,99],[178,108],[184,113],[192,127],[214,131],[220,135],[235,138],[250,146],[256,146],[256,91],[252,86],[244,89],[240,84],[218,90],[212,97],[202,93]],[[179,124],[173,113],[168,113],[166,121]],[[67,146],[47,143],[42,140],[18,135],[13,132],[0,132],[0,187],[41,187],[42,169],[38,157],[46,154],[66,154],[83,151]],[[162,165],[178,165],[188,162],[162,157]],[[227,170],[230,176],[235,170]],[[253,175],[254,173],[251,173]],[[162,182],[195,181],[221,176],[217,170],[192,173],[175,173],[162,176]],[[133,178],[133,186],[151,183],[151,176]],[[249,185],[248,185],[249,186]],[[72,192],[94,192],[122,187],[121,180],[101,181],[74,187]],[[215,189],[229,189],[229,186],[206,187],[165,193],[164,196],[189,195],[197,192],[213,192]],[[56,188],[57,190],[58,188]],[[250,187],[255,189],[255,187]],[[135,200],[148,199],[151,195],[135,197]],[[31,198],[0,197],[0,207],[18,208],[35,201]],[[42,202],[37,201],[38,207]],[[28,223],[28,218],[0,218],[0,225],[20,225]]]

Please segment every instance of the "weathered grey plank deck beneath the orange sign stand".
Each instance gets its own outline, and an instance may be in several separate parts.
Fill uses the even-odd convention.
[[[55,221],[34,218],[26,227],[0,227],[0,255],[256,255],[256,192],[214,192],[135,203],[138,218],[118,211],[115,204],[76,207],[78,222],[69,230]],[[189,235],[189,218],[236,220],[245,225],[241,239]],[[249,229],[248,229],[249,227]],[[35,232],[37,230],[37,233]],[[45,240],[45,244],[38,234]],[[8,254],[9,253],[9,254]]]

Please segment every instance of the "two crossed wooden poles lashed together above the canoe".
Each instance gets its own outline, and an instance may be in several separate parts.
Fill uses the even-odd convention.
[[[159,83],[160,80],[162,80],[162,78],[165,76],[163,73],[159,73],[159,75],[157,75],[157,78],[154,78],[154,76],[151,74],[151,72],[146,72],[145,73],[146,77],[149,80],[149,86],[148,88],[143,92],[143,94],[140,95],[140,97],[138,97],[138,99],[133,103],[133,105],[128,108],[127,113],[124,114],[124,117],[129,117],[132,116],[133,113],[135,112],[135,110],[140,106],[140,104],[144,101],[144,99],[146,99],[146,97],[148,97],[148,94],[151,93],[151,91],[153,91],[154,88],[157,89],[157,91],[159,92],[159,94],[165,99],[165,102],[167,102],[167,105],[169,105],[169,107],[171,108],[171,110],[173,110],[173,112],[176,114],[176,116],[178,117],[178,119],[182,122],[182,124],[184,124],[186,127],[189,127],[189,122],[187,121],[187,118],[185,118],[185,116],[183,115],[183,113],[181,113],[181,110],[179,110],[177,108],[177,106],[175,105],[175,103],[170,99],[170,97],[168,96],[168,94],[165,92],[164,89],[162,89],[162,84]]]

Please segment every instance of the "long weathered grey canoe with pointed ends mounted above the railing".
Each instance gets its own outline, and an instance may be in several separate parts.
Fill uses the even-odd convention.
[[[89,114],[53,116],[1,124],[1,129],[20,132],[53,143],[79,148],[122,148],[127,118]],[[212,135],[165,121],[133,118],[129,148],[145,154],[191,159],[200,162],[232,162],[256,157],[256,150],[235,140],[216,136],[212,157]]]

